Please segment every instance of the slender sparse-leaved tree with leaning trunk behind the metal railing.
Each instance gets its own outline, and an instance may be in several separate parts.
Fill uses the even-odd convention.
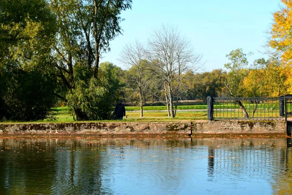
[[[229,71],[225,86],[231,97],[240,97],[243,94],[241,86],[243,79],[248,74],[248,70],[246,68],[248,65],[247,57],[249,55],[251,55],[251,53],[244,54],[242,49],[232,50],[226,55],[226,58],[228,58],[231,62],[224,64],[224,67]],[[244,117],[249,117],[241,101],[237,100],[236,102],[244,113]]]

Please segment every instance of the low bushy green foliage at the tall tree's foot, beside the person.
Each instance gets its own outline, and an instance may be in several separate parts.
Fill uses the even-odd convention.
[[[80,110],[85,120],[105,120],[111,117],[112,104],[118,99],[120,68],[110,62],[100,64],[98,79],[79,80],[67,95],[70,111]],[[76,77],[79,75],[76,74]]]

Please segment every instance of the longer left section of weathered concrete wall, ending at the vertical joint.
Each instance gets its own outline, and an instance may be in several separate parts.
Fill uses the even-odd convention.
[[[189,134],[191,122],[76,122],[0,124],[0,134]]]

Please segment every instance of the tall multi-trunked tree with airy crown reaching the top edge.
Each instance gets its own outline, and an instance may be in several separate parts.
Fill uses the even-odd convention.
[[[132,0],[50,0],[58,21],[52,57],[58,77],[68,89],[66,97],[57,96],[68,101],[77,120],[109,117],[109,113],[98,118],[89,116],[94,105],[82,106],[90,99],[81,95],[95,94],[99,98],[94,100],[96,103],[109,98],[107,83],[99,78],[99,60],[103,52],[110,51],[110,40],[122,33],[120,14],[131,8],[131,3]]]

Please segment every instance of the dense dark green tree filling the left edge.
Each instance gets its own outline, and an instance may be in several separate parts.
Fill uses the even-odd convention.
[[[2,0],[0,23],[0,119],[50,117],[56,80],[48,55],[54,15],[45,0]]]

